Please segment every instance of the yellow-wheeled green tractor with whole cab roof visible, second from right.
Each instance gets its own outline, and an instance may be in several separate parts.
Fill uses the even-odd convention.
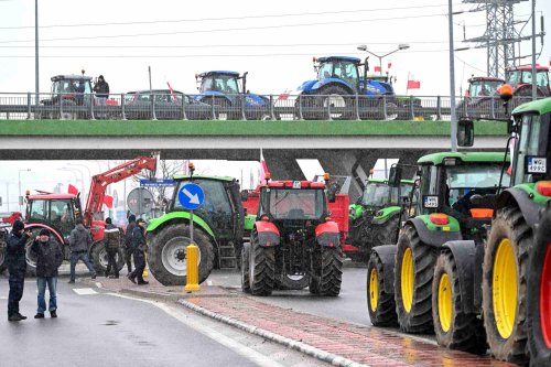
[[[434,153],[419,159],[398,245],[375,247],[368,261],[367,306],[376,326],[398,324],[408,333],[431,333],[432,279],[447,241],[482,242],[500,186],[504,153]],[[389,183],[400,183],[400,165]]]

